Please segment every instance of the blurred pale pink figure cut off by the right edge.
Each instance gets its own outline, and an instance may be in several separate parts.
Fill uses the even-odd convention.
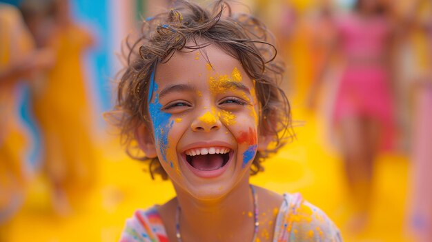
[[[429,3],[429,6],[427,6]],[[413,82],[413,123],[411,143],[411,196],[409,229],[416,242],[432,241],[432,1],[418,1],[426,7],[427,18],[415,19],[418,57]]]

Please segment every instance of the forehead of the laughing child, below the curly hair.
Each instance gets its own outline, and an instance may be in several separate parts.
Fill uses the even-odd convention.
[[[244,84],[248,85],[251,80],[242,68],[242,63],[210,44],[198,50],[176,51],[168,62],[157,65],[155,81],[161,86],[173,81],[202,81],[209,76],[230,74],[234,68],[241,72]]]

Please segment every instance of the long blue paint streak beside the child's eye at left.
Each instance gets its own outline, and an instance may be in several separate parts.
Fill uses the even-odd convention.
[[[171,114],[161,110],[162,105],[159,103],[159,94],[155,94],[155,99],[150,102],[153,92],[157,92],[157,83],[155,82],[155,71],[150,76],[150,87],[148,89],[148,112],[153,123],[153,132],[155,134],[155,142],[159,145],[159,150],[162,159],[166,162],[166,152],[168,150],[168,133],[173,128],[173,120],[170,120]]]

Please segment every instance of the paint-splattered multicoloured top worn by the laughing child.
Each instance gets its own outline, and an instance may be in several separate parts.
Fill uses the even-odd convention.
[[[137,210],[126,221],[120,242],[168,242],[157,207]],[[258,239],[257,239],[258,241]],[[339,230],[328,216],[300,194],[284,194],[275,223],[273,242],[342,242]]]

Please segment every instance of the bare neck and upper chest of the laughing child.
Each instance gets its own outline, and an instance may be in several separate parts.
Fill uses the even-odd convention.
[[[213,201],[195,199],[177,188],[176,192],[182,241],[252,241],[254,205],[248,177]]]

